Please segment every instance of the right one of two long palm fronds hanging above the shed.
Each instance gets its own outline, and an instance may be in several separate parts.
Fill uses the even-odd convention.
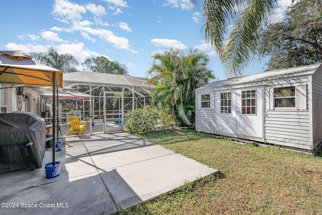
[[[253,0],[239,14],[229,36],[225,52],[221,56],[226,68],[226,77],[238,77],[251,62],[260,37],[260,29],[274,12],[275,1]]]

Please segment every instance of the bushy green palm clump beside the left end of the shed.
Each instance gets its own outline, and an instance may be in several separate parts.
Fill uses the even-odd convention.
[[[208,55],[191,50],[186,56],[171,48],[156,53],[147,72],[153,84],[152,102],[159,104],[162,113],[168,113],[177,125],[191,125],[195,121],[195,89],[214,79],[207,68]]]

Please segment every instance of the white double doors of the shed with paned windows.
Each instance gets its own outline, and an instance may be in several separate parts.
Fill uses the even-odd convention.
[[[263,87],[216,92],[216,131],[263,137]]]

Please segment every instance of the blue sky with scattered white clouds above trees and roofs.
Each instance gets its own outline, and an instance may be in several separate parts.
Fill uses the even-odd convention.
[[[0,50],[47,52],[52,46],[79,63],[105,56],[124,63],[131,76],[146,77],[154,53],[198,48],[209,55],[209,68],[223,80],[219,57],[201,32],[203,1],[197,2],[199,10],[190,0],[2,1]],[[281,21],[291,5],[291,0],[277,2],[272,22]],[[244,75],[264,68],[264,62],[255,59]]]

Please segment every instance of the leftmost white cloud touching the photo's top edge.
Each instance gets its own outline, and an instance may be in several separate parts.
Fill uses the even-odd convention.
[[[81,20],[82,14],[86,13],[86,8],[69,1],[55,0],[53,13],[68,20]]]

